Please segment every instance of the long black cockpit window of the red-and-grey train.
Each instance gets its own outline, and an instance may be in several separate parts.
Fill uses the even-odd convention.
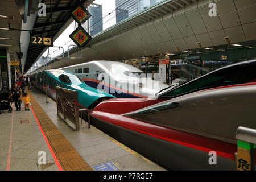
[[[170,90],[169,92],[160,95],[160,97],[175,97],[198,90],[251,82],[251,80],[256,79],[255,72],[253,72],[255,69],[256,64],[242,64],[226,69],[220,69],[219,71],[210,73],[209,75],[205,75]]]

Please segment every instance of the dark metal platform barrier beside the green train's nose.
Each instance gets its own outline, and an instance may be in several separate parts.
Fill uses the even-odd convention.
[[[57,114],[63,121],[67,119],[75,124],[75,130],[80,130],[82,120],[88,122],[90,127],[90,112],[78,103],[78,92],[56,86]],[[82,107],[80,109],[79,107]],[[81,122],[80,122],[81,117]]]

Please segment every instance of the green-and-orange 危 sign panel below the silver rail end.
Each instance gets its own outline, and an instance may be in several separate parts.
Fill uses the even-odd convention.
[[[255,144],[237,141],[237,171],[254,171]]]

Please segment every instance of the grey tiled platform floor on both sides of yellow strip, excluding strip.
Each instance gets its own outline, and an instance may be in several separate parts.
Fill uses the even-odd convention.
[[[57,117],[55,101],[48,98],[46,104],[46,96],[35,88],[32,94],[93,170],[164,170],[93,126],[88,129],[88,125],[82,125],[80,131],[73,131]],[[22,111],[14,109],[13,113],[0,114],[0,170],[59,170],[34,115],[23,107]],[[20,120],[24,119],[30,122],[21,124]],[[46,152],[46,166],[38,164],[39,151]]]

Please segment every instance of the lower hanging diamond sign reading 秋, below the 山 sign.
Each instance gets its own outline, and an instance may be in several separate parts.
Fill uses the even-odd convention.
[[[78,47],[84,47],[92,40],[92,37],[82,27],[78,27],[69,37]]]

